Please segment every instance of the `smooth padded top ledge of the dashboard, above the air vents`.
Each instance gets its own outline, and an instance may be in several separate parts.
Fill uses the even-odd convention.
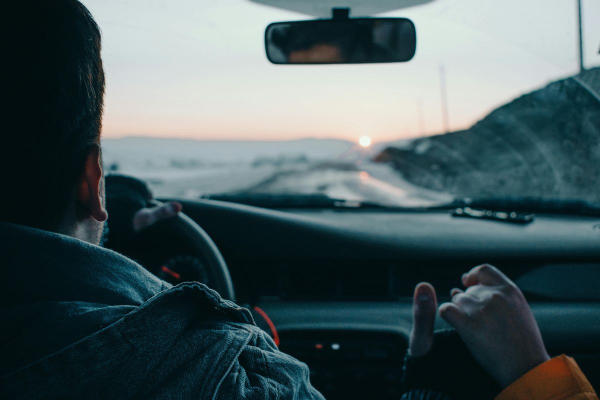
[[[600,255],[600,218],[538,215],[532,224],[453,218],[445,211],[277,210],[202,200],[185,212],[243,257],[497,258]],[[268,240],[268,242],[265,242]],[[341,245],[341,246],[337,246]],[[268,250],[268,254],[261,252]],[[432,253],[432,250],[434,253]]]

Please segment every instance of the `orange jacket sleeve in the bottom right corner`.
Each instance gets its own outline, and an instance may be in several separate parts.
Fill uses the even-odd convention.
[[[598,400],[571,357],[554,357],[514,381],[496,400]]]

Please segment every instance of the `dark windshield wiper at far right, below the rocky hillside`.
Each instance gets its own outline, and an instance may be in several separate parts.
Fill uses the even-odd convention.
[[[471,210],[487,210],[496,213],[502,212],[508,214],[508,218],[503,218],[506,220],[510,220],[510,217],[515,214],[521,218],[521,216],[532,215],[533,213],[600,215],[600,206],[586,200],[541,199],[539,197],[459,198],[455,199],[450,204],[446,204],[445,207],[448,209],[461,208],[464,210],[468,208]],[[505,215],[501,216],[504,217]],[[482,218],[484,217],[482,216]]]

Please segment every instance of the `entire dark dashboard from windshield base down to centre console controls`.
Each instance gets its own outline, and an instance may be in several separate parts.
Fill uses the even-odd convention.
[[[484,262],[524,291],[548,351],[574,356],[600,388],[600,218],[537,215],[511,224],[442,210],[180,201],[221,250],[238,302],[269,315],[281,350],[308,364],[328,399],[398,398],[415,284],[431,282],[443,302],[461,273]],[[179,273],[179,264],[165,263],[195,262],[181,243],[148,240],[143,265]],[[447,325],[438,319],[436,327]]]

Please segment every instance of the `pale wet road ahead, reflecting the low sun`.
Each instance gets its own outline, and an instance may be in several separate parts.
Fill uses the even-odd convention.
[[[214,169],[131,171],[145,179],[157,197],[197,199],[203,194],[322,193],[335,199],[370,201],[389,206],[431,206],[451,197],[405,181],[391,167],[371,162],[306,164],[291,167],[230,165]]]

